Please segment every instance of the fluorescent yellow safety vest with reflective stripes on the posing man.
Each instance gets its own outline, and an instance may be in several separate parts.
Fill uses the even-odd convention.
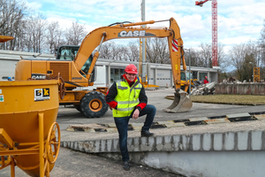
[[[136,80],[130,88],[127,81],[117,81],[117,109],[112,110],[112,115],[115,118],[130,116],[134,107],[139,104],[139,95],[142,85]]]

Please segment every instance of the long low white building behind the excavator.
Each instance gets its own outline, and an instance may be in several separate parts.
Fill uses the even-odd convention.
[[[0,81],[7,81],[7,77],[15,79],[15,68],[17,62],[21,58],[33,58],[38,53],[25,52],[25,51],[11,51],[11,50],[0,50]],[[37,58],[50,58],[55,59],[53,54],[42,54]],[[89,89],[95,89],[96,87],[109,87],[113,81],[120,79],[124,73],[125,66],[132,62],[110,60],[99,58],[96,62],[96,81],[94,87]],[[134,65],[139,66],[139,63],[133,62]],[[148,83],[155,84],[160,87],[172,87],[173,78],[171,73],[171,65],[154,64],[148,63],[143,64],[146,68],[146,75],[148,76]],[[181,65],[182,70],[182,65]],[[189,66],[187,66],[187,72]],[[217,69],[206,68],[206,67],[191,67],[193,78],[197,78],[199,81],[203,81],[205,76],[208,76],[210,82],[218,80]],[[145,78],[143,78],[145,79]]]

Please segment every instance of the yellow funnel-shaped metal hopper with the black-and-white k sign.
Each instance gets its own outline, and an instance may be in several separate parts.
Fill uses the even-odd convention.
[[[44,140],[57,119],[58,81],[0,81],[0,98],[0,128],[4,129],[13,142],[17,142],[17,151],[13,153],[29,153],[13,158],[27,174],[39,176],[40,158],[36,149],[40,146],[36,147],[32,142],[39,142],[40,112],[43,113]],[[0,141],[2,142],[2,139]],[[19,146],[19,143],[23,145]],[[53,165],[49,165],[49,170],[52,167]]]

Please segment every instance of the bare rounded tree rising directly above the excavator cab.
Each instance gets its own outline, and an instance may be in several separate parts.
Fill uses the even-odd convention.
[[[65,38],[67,45],[79,45],[87,35],[85,25],[78,21],[72,22],[72,27],[66,29]]]

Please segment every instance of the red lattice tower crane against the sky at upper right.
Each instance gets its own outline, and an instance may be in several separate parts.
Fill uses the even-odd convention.
[[[202,7],[208,1],[196,1],[195,5]],[[218,66],[217,0],[212,0],[212,65]]]

